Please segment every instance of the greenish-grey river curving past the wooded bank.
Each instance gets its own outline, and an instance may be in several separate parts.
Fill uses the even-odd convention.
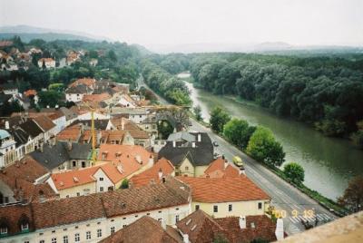
[[[232,117],[273,131],[286,152],[286,162],[298,162],[305,170],[305,185],[329,199],[341,196],[352,177],[363,175],[363,151],[349,141],[325,137],[304,123],[283,119],[259,106],[195,89],[191,83],[187,86],[193,105],[201,106],[205,121],[209,120],[211,109],[218,105]]]

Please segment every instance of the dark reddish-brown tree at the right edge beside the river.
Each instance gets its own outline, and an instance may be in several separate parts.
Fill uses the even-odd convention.
[[[349,181],[348,188],[344,191],[343,196],[338,198],[338,203],[347,207],[352,212],[358,212],[363,209],[363,177],[359,176]]]

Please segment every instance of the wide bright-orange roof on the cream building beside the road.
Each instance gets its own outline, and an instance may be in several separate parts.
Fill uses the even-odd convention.
[[[192,178],[178,177],[191,186],[193,201],[228,202],[270,199],[247,177],[238,178]]]

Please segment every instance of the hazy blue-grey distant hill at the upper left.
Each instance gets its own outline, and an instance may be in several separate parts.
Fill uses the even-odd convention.
[[[14,35],[20,36],[24,42],[29,42],[32,39],[44,39],[44,41],[54,40],[81,40],[86,42],[95,41],[113,41],[110,38],[86,34],[82,32],[54,30],[39,28],[29,25],[1,26],[0,39],[12,38]]]

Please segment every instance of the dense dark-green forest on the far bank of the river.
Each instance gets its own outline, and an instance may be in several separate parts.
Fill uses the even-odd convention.
[[[196,87],[256,102],[363,146],[363,54],[193,53],[153,60],[170,73],[190,70]]]

